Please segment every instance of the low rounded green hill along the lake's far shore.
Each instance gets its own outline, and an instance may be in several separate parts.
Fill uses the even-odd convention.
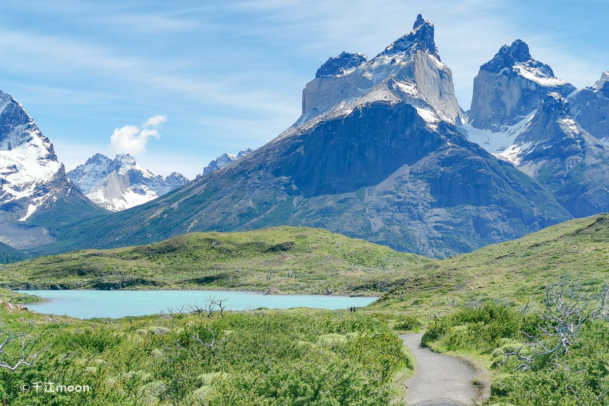
[[[85,250],[5,265],[0,284],[62,289],[241,289],[374,295],[396,268],[428,262],[323,229],[191,233],[164,242]]]

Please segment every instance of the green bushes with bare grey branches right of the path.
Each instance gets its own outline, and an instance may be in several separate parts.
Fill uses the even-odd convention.
[[[607,290],[563,281],[545,292],[537,311],[487,301],[436,318],[423,344],[487,366],[488,405],[609,404]]]

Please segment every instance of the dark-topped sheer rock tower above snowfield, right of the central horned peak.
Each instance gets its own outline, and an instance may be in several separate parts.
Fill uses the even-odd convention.
[[[501,131],[522,121],[546,94],[566,97],[574,90],[557,79],[552,68],[534,60],[526,43],[516,40],[480,67],[468,121],[476,128]]]

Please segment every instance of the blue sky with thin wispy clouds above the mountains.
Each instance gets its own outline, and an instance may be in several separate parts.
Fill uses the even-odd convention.
[[[434,22],[465,109],[479,66],[516,38],[578,87],[609,70],[607,0],[4,0],[0,89],[68,169],[96,152],[131,152],[155,173],[192,178],[296,121],[328,57],[376,55],[417,13]],[[134,142],[110,147],[117,128]]]

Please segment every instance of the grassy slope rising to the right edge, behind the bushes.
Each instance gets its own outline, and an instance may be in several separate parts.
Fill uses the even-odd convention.
[[[373,307],[430,313],[481,298],[536,303],[544,285],[566,275],[591,289],[607,280],[609,214],[409,268],[402,284]]]

